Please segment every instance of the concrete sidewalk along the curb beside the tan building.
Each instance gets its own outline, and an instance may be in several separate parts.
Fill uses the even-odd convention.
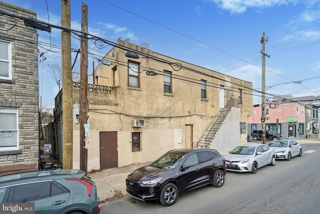
[[[320,143],[318,139],[313,138],[296,139],[296,141],[299,143]],[[119,191],[125,195],[125,179],[127,175],[135,169],[149,165],[150,163],[151,162],[89,172],[87,176],[94,180],[100,200],[105,202],[113,198]]]

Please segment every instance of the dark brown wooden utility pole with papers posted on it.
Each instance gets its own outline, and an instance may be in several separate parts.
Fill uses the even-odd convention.
[[[88,116],[88,6],[82,2],[81,13],[81,63],[80,63],[80,170],[87,172],[88,134],[85,134],[84,124]]]

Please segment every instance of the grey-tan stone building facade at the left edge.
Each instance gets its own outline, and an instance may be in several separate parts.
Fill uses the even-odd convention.
[[[0,2],[0,174],[38,169],[37,31],[14,16],[36,14]]]

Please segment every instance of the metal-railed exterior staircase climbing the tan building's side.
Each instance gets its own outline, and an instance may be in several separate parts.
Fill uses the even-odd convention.
[[[238,100],[230,98],[223,109],[220,109],[217,115],[213,118],[212,123],[207,127],[204,134],[198,142],[193,144],[194,148],[209,148],[215,134],[221,128],[231,107],[238,107]]]

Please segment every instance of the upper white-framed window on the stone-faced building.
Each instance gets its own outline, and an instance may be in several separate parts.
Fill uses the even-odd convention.
[[[0,79],[12,79],[10,42],[0,41]]]

